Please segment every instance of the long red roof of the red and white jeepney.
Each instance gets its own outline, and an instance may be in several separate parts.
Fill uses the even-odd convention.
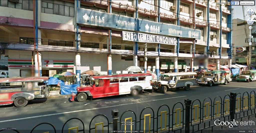
[[[112,79],[112,78],[121,78],[121,77],[141,77],[141,76],[151,76],[150,73],[128,73],[128,74],[116,74],[116,75],[99,75],[92,76],[93,79]]]

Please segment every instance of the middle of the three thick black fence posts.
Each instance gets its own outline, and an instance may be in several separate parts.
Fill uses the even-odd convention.
[[[186,112],[185,112],[185,133],[189,133],[190,129],[190,106],[191,106],[191,100],[190,99],[184,99],[185,106],[186,106]]]

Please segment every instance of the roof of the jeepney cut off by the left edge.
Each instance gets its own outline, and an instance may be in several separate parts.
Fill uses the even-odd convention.
[[[46,81],[49,77],[10,77],[10,78],[1,78],[0,83],[3,82],[29,82],[29,81]]]

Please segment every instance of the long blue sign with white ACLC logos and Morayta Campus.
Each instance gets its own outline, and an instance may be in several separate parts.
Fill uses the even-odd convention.
[[[77,23],[174,37],[201,38],[200,30],[197,29],[190,29],[173,24],[157,23],[145,19],[136,19],[84,8],[77,8]]]

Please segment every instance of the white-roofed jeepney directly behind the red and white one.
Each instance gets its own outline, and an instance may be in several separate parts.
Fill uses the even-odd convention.
[[[195,72],[176,72],[176,73],[164,73],[161,75],[161,80],[153,83],[153,90],[161,90],[166,93],[167,89],[172,88],[185,88],[186,91],[190,89],[190,86],[196,85],[197,75]]]

